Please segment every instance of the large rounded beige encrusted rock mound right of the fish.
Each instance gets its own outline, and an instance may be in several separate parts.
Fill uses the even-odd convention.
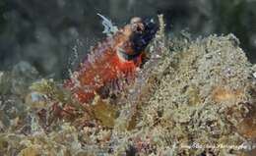
[[[149,129],[145,135],[161,133],[161,147],[176,154],[249,151],[241,145],[256,138],[255,78],[237,38],[189,41],[169,57],[163,60],[170,66],[140,113],[140,129]]]

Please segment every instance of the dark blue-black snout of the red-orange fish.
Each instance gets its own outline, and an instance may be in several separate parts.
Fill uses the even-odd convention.
[[[135,54],[143,52],[159,30],[159,25],[153,19],[142,20],[142,25],[143,29],[135,32],[131,38]]]

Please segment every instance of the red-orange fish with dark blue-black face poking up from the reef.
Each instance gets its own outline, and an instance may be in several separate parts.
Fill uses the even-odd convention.
[[[123,81],[136,78],[137,68],[145,59],[145,48],[155,36],[153,20],[133,18],[130,24],[99,42],[80,69],[66,80],[65,86],[81,103],[95,95],[105,96],[109,88],[122,88]]]

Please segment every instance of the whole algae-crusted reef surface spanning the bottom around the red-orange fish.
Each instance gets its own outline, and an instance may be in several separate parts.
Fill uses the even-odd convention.
[[[26,62],[1,72],[0,155],[255,155],[256,67],[238,39],[162,30],[136,82],[76,119],[45,113],[72,103],[58,80]]]

